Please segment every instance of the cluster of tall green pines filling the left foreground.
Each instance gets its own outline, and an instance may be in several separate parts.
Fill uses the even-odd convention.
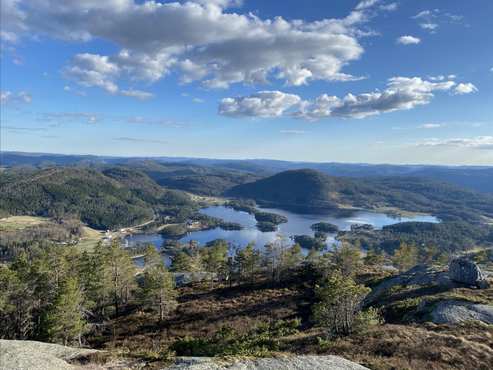
[[[138,284],[128,251],[115,239],[93,256],[50,244],[38,258],[17,256],[0,266],[1,338],[83,345],[84,334],[103,331],[132,303],[160,312],[175,304],[175,282],[152,243]]]

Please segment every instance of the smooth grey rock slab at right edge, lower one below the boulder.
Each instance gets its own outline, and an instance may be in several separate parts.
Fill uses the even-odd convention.
[[[423,300],[417,312],[426,312],[435,324],[453,324],[465,320],[480,320],[493,324],[493,306],[487,304],[454,299],[441,302]]]

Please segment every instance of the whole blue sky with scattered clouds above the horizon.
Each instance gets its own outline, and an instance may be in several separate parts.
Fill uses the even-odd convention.
[[[1,150],[493,165],[492,14],[2,0]]]

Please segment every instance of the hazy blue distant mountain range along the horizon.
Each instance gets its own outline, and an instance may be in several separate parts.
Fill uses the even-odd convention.
[[[394,165],[369,163],[290,162],[274,159],[211,159],[187,157],[116,157],[57,153],[0,152],[0,163],[11,172],[24,172],[62,165],[70,168],[106,170],[121,166],[146,173],[159,181],[173,176],[245,173],[274,175],[310,168],[331,176],[412,176],[442,179],[452,184],[493,193],[493,166]],[[26,165],[33,167],[26,167]]]

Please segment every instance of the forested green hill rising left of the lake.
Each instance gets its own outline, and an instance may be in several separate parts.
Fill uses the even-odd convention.
[[[2,173],[0,215],[76,218],[94,228],[113,229],[152,220],[152,205],[197,207],[181,192],[160,189],[138,171],[117,169],[107,175],[57,168]]]

